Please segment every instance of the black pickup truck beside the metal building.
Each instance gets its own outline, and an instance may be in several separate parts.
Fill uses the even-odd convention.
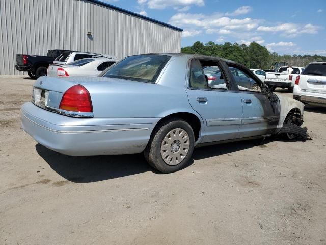
[[[46,76],[47,67],[65,51],[71,50],[48,50],[47,56],[41,55],[16,55],[16,69],[27,71],[27,74],[34,79]]]

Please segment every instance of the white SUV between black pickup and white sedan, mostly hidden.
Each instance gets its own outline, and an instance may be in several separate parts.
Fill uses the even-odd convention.
[[[85,59],[85,58],[110,58],[110,59],[117,59],[114,56],[110,55],[101,55],[96,53],[89,53],[89,52],[63,52],[60,56],[58,56],[55,61],[53,61],[53,64],[60,64],[65,65],[69,64],[73,61]]]

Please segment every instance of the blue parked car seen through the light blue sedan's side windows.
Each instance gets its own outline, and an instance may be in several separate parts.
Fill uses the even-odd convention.
[[[209,85],[212,86],[225,84],[224,78],[223,76],[221,76],[221,71],[217,66],[208,66],[205,67],[203,70],[205,76],[207,76]],[[253,90],[258,89],[258,85],[255,80],[251,79],[246,74],[243,74],[241,70],[230,68],[230,71],[239,86],[242,86],[244,88],[250,88]]]

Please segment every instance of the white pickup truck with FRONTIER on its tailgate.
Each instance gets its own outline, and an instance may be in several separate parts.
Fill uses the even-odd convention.
[[[293,71],[290,73],[287,66],[281,66],[278,72],[267,72],[264,83],[273,91],[277,88],[287,88],[293,91],[296,75],[301,74],[305,67],[291,67]]]

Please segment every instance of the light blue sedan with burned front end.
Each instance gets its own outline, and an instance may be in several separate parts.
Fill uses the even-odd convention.
[[[208,84],[203,67],[212,66],[224,86]],[[239,86],[234,69],[260,90]],[[301,125],[303,113],[303,103],[269,92],[236,62],[161,53],[126,57],[102,77],[41,77],[21,107],[21,123],[53,151],[144,152],[150,165],[169,173],[188,164],[195,146],[275,135],[289,121]]]

